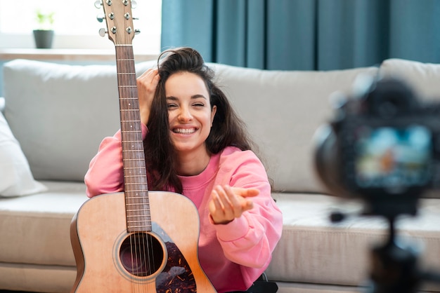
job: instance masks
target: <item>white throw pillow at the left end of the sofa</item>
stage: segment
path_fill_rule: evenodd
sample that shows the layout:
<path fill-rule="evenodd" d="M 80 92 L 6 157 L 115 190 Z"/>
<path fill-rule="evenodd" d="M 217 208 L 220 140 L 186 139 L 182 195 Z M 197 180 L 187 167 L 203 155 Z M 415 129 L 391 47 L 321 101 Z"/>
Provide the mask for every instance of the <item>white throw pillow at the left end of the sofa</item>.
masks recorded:
<path fill-rule="evenodd" d="M 25 196 L 46 190 L 32 177 L 25 154 L 0 112 L 0 196 Z"/>

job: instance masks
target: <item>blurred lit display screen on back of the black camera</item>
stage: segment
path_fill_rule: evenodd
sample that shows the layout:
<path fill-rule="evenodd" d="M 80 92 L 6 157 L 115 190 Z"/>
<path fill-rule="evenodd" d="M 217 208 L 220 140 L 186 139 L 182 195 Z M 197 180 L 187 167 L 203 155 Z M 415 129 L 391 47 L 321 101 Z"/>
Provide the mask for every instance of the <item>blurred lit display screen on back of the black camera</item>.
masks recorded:
<path fill-rule="evenodd" d="M 425 126 L 361 126 L 355 133 L 354 148 L 355 179 L 361 188 L 399 192 L 429 182 L 432 134 Z"/>

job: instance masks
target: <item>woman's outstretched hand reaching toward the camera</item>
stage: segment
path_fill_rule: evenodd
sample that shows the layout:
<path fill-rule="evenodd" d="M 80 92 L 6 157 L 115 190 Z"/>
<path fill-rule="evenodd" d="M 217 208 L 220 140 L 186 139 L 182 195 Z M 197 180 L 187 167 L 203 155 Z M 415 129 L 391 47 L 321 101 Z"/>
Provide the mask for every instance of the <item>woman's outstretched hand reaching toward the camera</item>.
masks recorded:
<path fill-rule="evenodd" d="M 257 196 L 258 189 L 245 189 L 228 185 L 217 185 L 211 191 L 209 214 L 214 224 L 228 224 L 241 217 L 242 213 L 252 209 L 254 204 L 249 197 Z"/>

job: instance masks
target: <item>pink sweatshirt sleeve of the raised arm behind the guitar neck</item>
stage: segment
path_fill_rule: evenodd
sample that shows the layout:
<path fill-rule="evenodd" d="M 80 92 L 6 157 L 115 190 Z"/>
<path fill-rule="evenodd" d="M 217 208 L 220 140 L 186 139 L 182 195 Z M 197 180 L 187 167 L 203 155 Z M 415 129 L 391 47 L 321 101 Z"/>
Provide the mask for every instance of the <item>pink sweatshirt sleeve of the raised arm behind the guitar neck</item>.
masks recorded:
<path fill-rule="evenodd" d="M 142 125 L 143 139 L 147 132 L 147 127 Z M 112 137 L 103 139 L 98 153 L 91 159 L 84 182 L 86 184 L 86 195 L 89 198 L 103 193 L 115 193 L 124 190 L 120 130 Z"/>

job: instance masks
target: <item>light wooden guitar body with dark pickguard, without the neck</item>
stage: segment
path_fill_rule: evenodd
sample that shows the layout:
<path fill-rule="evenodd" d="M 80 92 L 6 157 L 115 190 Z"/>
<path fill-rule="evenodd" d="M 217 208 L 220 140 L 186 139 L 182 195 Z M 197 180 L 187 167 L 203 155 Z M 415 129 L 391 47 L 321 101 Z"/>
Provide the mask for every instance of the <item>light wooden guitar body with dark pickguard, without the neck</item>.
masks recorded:
<path fill-rule="evenodd" d="M 72 292 L 216 292 L 198 261 L 193 203 L 164 191 L 150 191 L 149 197 L 150 232 L 127 232 L 124 193 L 82 205 L 70 226 L 77 261 Z"/>

